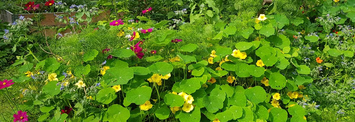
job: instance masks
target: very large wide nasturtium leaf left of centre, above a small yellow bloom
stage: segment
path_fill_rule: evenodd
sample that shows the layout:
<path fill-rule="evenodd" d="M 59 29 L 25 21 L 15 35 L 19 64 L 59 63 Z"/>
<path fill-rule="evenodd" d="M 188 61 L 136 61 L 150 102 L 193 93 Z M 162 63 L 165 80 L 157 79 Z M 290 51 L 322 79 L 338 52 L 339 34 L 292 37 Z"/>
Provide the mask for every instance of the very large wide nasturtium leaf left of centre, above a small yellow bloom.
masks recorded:
<path fill-rule="evenodd" d="M 109 86 L 127 84 L 133 78 L 134 71 L 131 68 L 112 67 L 107 69 L 103 79 Z"/>

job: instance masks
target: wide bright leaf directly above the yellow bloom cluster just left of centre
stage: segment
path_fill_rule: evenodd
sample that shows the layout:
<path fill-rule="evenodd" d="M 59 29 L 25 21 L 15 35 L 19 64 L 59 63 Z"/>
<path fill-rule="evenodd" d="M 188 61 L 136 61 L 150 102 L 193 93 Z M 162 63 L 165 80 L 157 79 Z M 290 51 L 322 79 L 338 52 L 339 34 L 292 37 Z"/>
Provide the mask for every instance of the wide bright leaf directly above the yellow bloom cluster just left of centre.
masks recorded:
<path fill-rule="evenodd" d="M 149 66 L 148 69 L 151 72 L 166 75 L 173 71 L 173 66 L 166 62 L 156 62 Z"/>

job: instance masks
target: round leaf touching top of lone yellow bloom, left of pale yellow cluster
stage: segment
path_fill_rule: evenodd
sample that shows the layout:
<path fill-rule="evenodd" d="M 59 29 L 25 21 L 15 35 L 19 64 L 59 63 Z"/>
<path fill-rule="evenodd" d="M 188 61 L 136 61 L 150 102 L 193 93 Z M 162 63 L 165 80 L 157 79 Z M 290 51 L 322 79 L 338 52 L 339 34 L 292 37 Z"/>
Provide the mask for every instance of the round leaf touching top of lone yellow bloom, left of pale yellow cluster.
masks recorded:
<path fill-rule="evenodd" d="M 127 99 L 128 102 L 135 103 L 137 105 L 142 105 L 151 98 L 151 95 L 152 88 L 148 86 L 143 86 L 128 91 L 125 99 Z"/>

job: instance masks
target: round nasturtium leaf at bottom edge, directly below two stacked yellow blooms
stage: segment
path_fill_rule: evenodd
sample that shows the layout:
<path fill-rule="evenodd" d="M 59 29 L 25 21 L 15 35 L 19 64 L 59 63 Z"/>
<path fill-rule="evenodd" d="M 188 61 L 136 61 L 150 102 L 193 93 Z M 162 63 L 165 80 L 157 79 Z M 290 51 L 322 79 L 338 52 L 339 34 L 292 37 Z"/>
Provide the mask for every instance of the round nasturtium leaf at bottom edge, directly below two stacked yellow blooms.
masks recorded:
<path fill-rule="evenodd" d="M 286 122 L 287 115 L 287 111 L 280 108 L 272 108 L 269 113 L 271 122 Z"/>

